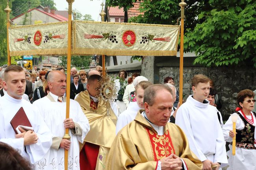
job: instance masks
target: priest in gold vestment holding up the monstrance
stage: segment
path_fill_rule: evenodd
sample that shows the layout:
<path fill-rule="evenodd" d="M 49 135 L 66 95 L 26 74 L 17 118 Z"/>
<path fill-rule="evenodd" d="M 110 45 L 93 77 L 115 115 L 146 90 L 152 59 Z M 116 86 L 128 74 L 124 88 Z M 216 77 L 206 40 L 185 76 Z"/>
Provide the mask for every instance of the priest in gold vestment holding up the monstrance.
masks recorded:
<path fill-rule="evenodd" d="M 80 92 L 75 99 L 90 125 L 90 131 L 80 151 L 81 170 L 106 169 L 106 157 L 115 139 L 117 117 L 111 108 L 109 109 L 110 117 L 106 116 L 106 108 L 101 106 L 96 98 L 95 88 L 100 79 L 99 75 L 91 75 L 87 80 L 87 90 Z"/>

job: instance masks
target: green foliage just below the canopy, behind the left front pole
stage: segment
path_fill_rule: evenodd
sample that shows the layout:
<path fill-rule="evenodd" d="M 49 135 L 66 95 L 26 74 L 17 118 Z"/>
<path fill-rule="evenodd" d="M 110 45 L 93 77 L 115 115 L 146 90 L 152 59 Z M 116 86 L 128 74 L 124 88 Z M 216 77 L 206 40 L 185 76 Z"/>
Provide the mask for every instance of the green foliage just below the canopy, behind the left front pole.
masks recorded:
<path fill-rule="evenodd" d="M 59 65 L 67 68 L 67 56 L 59 57 Z M 91 63 L 91 56 L 71 56 L 71 67 L 76 67 L 77 69 L 89 68 Z"/>

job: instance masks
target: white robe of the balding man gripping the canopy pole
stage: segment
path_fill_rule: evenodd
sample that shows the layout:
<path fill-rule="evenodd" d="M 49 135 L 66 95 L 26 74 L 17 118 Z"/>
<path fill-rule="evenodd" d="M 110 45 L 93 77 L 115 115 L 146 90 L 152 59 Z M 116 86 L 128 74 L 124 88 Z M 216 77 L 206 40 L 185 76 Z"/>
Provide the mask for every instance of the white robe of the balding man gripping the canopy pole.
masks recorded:
<path fill-rule="evenodd" d="M 44 121 L 52 132 L 52 137 L 62 138 L 65 134 L 63 122 L 66 119 L 66 102 L 57 102 L 58 96 L 52 93 L 50 93 L 50 96 L 52 99 L 54 99 L 54 102 L 50 101 L 50 99 L 45 96 L 33 102 L 33 105 L 39 108 Z M 83 139 L 89 132 L 90 126 L 89 121 L 82 112 L 80 105 L 78 102 L 72 99 L 70 99 L 69 114 L 69 117 L 82 128 L 82 135 L 74 134 L 71 130 L 69 130 L 71 144 L 68 152 L 68 169 L 80 170 L 79 142 L 83 143 Z M 52 146 L 45 157 L 36 165 L 36 168 L 39 170 L 42 170 L 43 168 L 47 170 L 64 170 L 64 148 L 56 149 Z"/>

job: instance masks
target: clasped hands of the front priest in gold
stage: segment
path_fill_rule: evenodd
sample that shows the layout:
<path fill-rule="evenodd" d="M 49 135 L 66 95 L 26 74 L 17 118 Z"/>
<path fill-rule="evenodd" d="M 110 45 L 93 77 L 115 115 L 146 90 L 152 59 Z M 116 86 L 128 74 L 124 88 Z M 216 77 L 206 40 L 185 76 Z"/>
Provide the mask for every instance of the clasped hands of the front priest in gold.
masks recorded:
<path fill-rule="evenodd" d="M 161 170 L 182 170 L 182 160 L 177 155 L 171 154 L 161 161 Z"/>

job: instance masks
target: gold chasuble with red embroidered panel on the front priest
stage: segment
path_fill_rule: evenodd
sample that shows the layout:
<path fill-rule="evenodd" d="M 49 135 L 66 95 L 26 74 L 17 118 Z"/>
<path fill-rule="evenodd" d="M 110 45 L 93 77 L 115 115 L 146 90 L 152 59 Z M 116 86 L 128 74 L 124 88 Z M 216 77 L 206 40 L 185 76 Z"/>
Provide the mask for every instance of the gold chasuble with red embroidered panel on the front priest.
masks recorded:
<path fill-rule="evenodd" d="M 187 170 L 202 170 L 202 162 L 189 149 L 184 132 L 167 123 L 158 135 L 148 121 L 137 113 L 135 120 L 115 137 L 108 154 L 107 170 L 156 170 L 158 161 L 171 154 L 182 158 Z"/>

